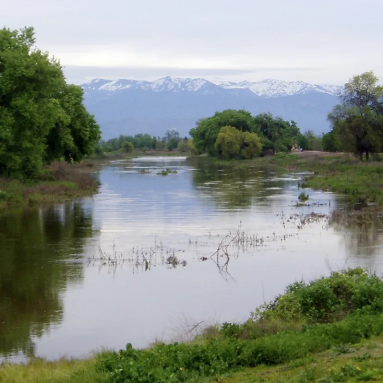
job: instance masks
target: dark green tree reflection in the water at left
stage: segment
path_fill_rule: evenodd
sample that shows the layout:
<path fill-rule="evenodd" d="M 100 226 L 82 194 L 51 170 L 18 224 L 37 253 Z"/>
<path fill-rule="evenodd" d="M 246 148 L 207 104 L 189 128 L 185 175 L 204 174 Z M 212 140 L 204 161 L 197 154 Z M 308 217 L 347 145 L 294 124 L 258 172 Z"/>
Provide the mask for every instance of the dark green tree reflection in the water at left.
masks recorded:
<path fill-rule="evenodd" d="M 92 233 L 80 203 L 0 216 L 0 355 L 34 355 L 33 339 L 61 323 L 61 294 L 83 279 L 73 254 Z"/>

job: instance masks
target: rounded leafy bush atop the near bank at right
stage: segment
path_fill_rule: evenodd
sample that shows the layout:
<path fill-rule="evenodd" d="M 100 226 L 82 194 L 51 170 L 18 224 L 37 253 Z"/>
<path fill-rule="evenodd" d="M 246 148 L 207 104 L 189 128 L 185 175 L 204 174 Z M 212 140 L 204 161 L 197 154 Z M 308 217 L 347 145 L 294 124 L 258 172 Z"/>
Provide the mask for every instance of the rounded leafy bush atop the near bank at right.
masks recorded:
<path fill-rule="evenodd" d="M 357 268 L 333 272 L 309 284 L 294 283 L 285 294 L 258 309 L 254 319 L 334 322 L 364 307 L 383 311 L 383 281 Z"/>

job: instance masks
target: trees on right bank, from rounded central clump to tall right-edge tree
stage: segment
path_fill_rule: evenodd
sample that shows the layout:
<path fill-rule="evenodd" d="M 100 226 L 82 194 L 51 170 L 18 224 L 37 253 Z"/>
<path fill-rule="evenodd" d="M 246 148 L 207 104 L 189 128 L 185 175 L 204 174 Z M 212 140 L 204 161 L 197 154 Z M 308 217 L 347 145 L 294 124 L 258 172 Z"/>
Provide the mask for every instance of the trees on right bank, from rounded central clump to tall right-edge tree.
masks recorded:
<path fill-rule="evenodd" d="M 190 130 L 197 153 L 221 159 L 249 159 L 262 153 L 303 150 L 355 153 L 369 160 L 383 151 L 383 86 L 374 72 L 354 76 L 345 84 L 340 103 L 329 113 L 332 129 L 322 137 L 300 132 L 294 121 L 270 113 L 252 116 L 227 109 L 202 118 Z"/>

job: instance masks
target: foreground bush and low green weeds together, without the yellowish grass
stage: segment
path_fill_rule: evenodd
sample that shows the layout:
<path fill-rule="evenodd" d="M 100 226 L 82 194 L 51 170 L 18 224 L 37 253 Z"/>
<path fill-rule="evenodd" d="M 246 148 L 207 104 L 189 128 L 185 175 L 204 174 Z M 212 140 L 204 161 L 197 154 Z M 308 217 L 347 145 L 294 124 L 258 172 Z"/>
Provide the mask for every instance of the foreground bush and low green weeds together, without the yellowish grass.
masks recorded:
<path fill-rule="evenodd" d="M 223 324 L 192 345 L 104 353 L 97 368 L 109 382 L 197 382 L 228 371 L 274 365 L 383 333 L 383 281 L 363 269 L 297 282 L 245 324 Z"/>

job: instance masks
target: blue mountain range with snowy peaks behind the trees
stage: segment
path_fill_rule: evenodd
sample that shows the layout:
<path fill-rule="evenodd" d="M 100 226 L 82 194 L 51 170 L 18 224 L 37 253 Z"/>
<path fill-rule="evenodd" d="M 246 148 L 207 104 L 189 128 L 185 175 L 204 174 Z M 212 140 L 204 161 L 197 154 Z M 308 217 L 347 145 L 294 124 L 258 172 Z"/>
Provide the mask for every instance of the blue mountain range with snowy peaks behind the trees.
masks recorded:
<path fill-rule="evenodd" d="M 327 114 L 342 88 L 302 81 L 210 82 L 164 77 L 156 81 L 95 79 L 82 84 L 85 105 L 96 116 L 103 138 L 149 133 L 162 136 L 176 128 L 187 135 L 201 117 L 227 108 L 252 114 L 271 112 L 294 120 L 301 131 L 329 131 Z"/>

